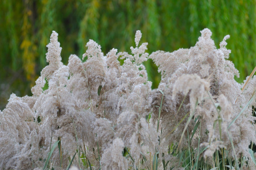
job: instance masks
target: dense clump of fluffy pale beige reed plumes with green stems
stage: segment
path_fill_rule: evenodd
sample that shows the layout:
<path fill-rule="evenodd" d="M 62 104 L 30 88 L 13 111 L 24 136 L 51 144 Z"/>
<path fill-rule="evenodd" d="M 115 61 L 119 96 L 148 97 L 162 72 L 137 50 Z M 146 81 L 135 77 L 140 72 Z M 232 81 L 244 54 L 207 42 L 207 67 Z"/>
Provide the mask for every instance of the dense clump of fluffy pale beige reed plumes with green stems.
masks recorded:
<path fill-rule="evenodd" d="M 131 53 L 105 56 L 90 40 L 65 66 L 53 31 L 33 95 L 12 94 L 0 111 L 1 169 L 255 170 L 255 71 L 236 82 L 229 35 L 219 49 L 211 35 L 150 55 L 140 31 Z M 157 89 L 147 59 L 161 73 Z"/>

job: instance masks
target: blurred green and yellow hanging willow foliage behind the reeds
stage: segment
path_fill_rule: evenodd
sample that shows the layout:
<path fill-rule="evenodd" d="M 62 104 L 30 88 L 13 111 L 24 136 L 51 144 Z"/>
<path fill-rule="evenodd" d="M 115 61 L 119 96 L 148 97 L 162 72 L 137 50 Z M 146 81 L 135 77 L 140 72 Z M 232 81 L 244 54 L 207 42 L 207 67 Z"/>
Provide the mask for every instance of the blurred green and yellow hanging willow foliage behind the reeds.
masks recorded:
<path fill-rule="evenodd" d="M 129 51 L 141 30 L 148 52 L 194 46 L 200 30 L 211 29 L 216 45 L 230 34 L 227 48 L 241 82 L 256 66 L 256 1 L 253 0 L 1 0 L 0 109 L 14 92 L 30 95 L 30 87 L 46 65 L 46 44 L 59 33 L 62 61 L 79 57 L 93 39 L 106 54 Z M 218 44 L 217 44 L 218 43 Z M 160 77 L 145 63 L 153 87 Z"/>

